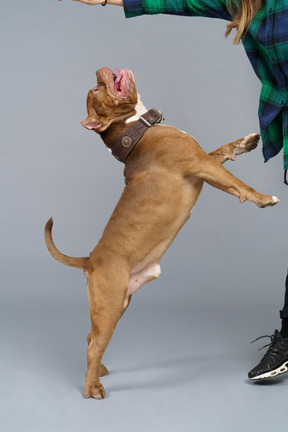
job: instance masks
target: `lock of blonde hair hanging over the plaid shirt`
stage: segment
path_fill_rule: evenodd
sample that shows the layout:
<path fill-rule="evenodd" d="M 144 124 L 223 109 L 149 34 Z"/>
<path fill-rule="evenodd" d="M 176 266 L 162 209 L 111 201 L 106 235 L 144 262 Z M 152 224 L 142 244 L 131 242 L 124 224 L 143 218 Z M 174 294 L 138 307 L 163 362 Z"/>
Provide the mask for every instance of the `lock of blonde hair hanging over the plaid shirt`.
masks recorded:
<path fill-rule="evenodd" d="M 246 35 L 249 30 L 250 24 L 258 9 L 261 5 L 261 1 L 257 0 L 239 0 L 235 4 L 234 0 L 227 0 L 227 9 L 232 16 L 232 22 L 227 25 L 225 37 L 227 37 L 231 31 L 235 28 L 236 35 L 233 40 L 233 44 L 239 44 L 241 37 Z"/>

